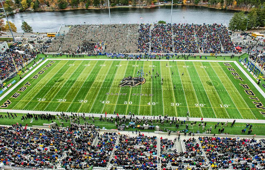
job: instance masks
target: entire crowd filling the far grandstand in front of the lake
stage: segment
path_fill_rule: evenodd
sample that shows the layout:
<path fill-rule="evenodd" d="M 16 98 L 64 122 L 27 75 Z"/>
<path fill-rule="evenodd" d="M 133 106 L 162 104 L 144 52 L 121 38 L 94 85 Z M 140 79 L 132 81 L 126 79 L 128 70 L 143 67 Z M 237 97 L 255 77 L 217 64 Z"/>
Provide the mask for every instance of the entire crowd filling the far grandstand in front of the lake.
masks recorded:
<path fill-rule="evenodd" d="M 94 43 L 107 53 L 236 53 L 223 24 L 74 25 L 65 36 L 57 37 L 47 52 L 99 52 Z"/>

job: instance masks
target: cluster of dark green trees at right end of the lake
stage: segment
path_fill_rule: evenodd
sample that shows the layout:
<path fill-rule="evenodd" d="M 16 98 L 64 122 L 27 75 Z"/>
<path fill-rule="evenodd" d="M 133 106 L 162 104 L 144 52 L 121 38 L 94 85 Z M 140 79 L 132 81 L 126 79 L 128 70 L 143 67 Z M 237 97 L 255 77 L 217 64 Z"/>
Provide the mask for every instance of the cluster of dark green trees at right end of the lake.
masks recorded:
<path fill-rule="evenodd" d="M 247 14 L 244 11 L 237 12 L 230 19 L 229 29 L 232 31 L 259 29 L 265 26 L 265 2 L 252 8 Z"/>

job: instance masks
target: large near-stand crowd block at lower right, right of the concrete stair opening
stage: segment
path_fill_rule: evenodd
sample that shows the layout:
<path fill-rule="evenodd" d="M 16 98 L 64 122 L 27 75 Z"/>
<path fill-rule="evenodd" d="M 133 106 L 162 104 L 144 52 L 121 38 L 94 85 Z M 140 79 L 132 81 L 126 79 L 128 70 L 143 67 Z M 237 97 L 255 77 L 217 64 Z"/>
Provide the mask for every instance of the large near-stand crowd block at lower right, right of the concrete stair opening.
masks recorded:
<path fill-rule="evenodd" d="M 212 169 L 259 169 L 245 146 L 251 140 L 239 138 L 199 137 Z"/>

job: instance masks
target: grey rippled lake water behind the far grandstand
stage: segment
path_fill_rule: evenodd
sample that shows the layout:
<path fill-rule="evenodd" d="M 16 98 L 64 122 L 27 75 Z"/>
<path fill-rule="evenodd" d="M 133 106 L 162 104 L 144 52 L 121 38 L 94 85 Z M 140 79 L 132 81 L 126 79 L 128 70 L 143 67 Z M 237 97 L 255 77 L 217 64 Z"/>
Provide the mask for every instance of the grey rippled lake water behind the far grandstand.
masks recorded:
<path fill-rule="evenodd" d="M 110 9 L 111 22 L 118 23 L 153 23 L 159 20 L 170 22 L 171 6 L 155 8 L 113 8 Z M 200 6 L 173 6 L 172 23 L 212 24 L 223 23 L 228 25 L 235 11 L 212 9 Z M 183 19 L 184 16 L 184 19 Z M 143 19 L 140 19 L 143 18 Z M 57 32 L 61 24 L 108 24 L 108 9 L 77 9 L 66 11 L 20 12 L 8 16 L 18 32 L 22 32 L 21 23 L 26 21 L 34 32 Z M 4 18 L 5 20 L 5 18 Z"/>

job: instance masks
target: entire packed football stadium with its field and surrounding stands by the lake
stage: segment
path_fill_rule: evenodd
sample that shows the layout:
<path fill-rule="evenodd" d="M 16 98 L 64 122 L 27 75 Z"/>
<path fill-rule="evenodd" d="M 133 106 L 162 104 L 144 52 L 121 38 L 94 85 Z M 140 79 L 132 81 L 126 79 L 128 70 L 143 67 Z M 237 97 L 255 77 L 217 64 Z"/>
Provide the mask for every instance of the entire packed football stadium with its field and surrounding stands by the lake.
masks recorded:
<path fill-rule="evenodd" d="M 6 22 L 1 170 L 265 169 L 265 40 L 246 21 L 71 22 L 42 36 Z"/>

